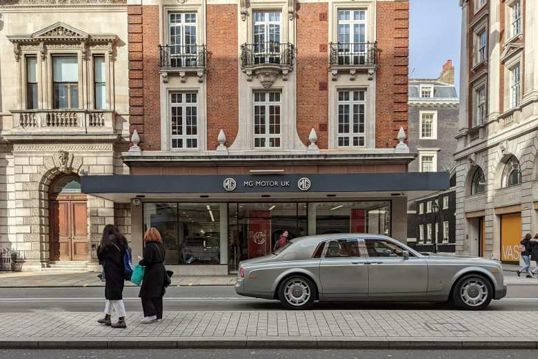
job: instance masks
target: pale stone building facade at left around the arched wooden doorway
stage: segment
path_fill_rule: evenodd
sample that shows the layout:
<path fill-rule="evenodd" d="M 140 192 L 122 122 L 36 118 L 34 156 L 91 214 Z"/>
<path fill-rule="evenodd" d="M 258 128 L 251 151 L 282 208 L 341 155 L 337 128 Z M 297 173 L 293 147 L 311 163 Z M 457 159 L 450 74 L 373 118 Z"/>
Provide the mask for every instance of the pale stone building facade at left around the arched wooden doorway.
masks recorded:
<path fill-rule="evenodd" d="M 123 1 L 9 1 L 0 6 L 0 248 L 23 258 L 23 270 L 51 264 L 50 185 L 59 176 L 128 173 L 119 155 L 128 140 L 127 6 Z M 52 61 L 77 59 L 78 102 L 57 108 Z M 94 61 L 103 57 L 104 106 L 97 109 Z M 30 106 L 29 59 L 37 61 Z M 11 84 L 11 86 L 6 86 Z M 74 101 L 74 100 L 73 100 Z M 86 199 L 89 266 L 103 226 L 130 234 L 130 211 L 90 195 Z"/>

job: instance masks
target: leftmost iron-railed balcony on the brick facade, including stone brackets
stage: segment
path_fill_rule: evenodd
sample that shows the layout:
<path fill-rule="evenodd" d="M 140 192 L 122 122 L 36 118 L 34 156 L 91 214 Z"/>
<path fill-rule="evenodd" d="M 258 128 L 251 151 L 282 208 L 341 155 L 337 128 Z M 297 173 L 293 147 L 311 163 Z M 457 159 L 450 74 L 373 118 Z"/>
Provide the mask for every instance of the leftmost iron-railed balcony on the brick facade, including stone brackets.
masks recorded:
<path fill-rule="evenodd" d="M 188 74 L 196 75 L 203 82 L 206 72 L 208 53 L 205 45 L 160 45 L 159 66 L 163 82 L 168 82 L 168 75 L 176 73 L 181 82 Z"/>

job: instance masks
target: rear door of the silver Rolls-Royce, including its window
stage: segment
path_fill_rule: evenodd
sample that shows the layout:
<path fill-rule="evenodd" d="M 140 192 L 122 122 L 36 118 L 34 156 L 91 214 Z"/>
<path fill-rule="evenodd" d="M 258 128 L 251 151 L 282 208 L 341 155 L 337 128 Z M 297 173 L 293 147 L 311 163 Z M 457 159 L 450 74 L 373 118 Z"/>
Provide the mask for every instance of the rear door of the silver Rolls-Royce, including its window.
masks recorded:
<path fill-rule="evenodd" d="M 368 296 L 367 261 L 366 253 L 359 251 L 357 239 L 328 241 L 319 262 L 320 299 L 366 298 Z"/>

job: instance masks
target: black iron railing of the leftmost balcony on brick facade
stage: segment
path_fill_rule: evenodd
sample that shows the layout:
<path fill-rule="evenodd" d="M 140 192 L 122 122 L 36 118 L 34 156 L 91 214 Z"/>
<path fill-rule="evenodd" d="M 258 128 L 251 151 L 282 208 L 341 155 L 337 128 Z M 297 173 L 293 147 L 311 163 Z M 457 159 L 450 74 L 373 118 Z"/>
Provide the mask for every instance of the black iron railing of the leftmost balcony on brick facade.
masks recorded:
<path fill-rule="evenodd" d="M 205 45 L 159 45 L 161 68 L 206 67 Z"/>

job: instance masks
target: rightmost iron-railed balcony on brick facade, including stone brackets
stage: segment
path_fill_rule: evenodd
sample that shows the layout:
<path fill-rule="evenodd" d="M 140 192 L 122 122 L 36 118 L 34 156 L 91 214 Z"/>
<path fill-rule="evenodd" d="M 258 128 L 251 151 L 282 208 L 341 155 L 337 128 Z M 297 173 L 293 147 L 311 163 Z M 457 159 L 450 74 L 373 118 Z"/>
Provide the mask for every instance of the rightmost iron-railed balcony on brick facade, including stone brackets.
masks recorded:
<path fill-rule="evenodd" d="M 377 42 L 330 43 L 329 71 L 336 81 L 339 72 L 349 72 L 354 80 L 357 72 L 368 72 L 368 79 L 374 79 L 377 68 Z"/>

